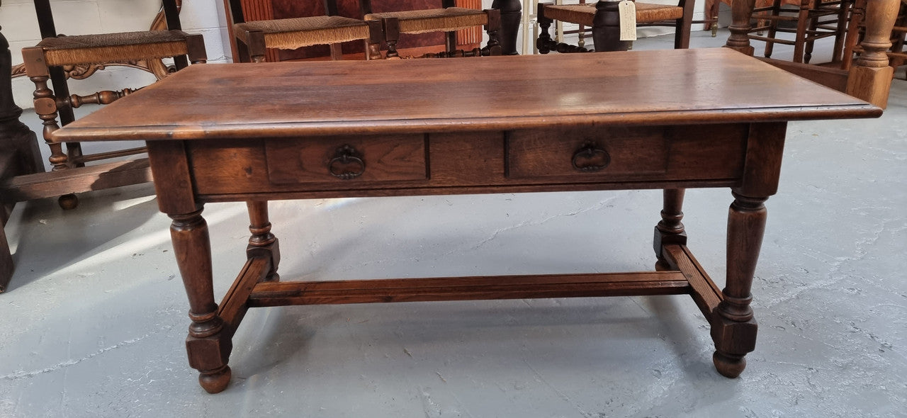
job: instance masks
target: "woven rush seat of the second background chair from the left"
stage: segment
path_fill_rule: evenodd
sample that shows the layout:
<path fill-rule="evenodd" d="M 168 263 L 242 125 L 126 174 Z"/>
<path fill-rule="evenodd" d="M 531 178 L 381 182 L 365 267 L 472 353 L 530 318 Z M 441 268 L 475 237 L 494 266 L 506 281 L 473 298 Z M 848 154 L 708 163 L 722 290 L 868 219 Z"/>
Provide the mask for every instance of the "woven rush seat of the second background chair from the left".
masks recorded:
<path fill-rule="evenodd" d="M 311 16 L 246 22 L 233 25 L 237 38 L 251 44 L 250 34 L 264 34 L 268 48 L 295 49 L 369 38 L 366 22 L 343 16 Z"/>

